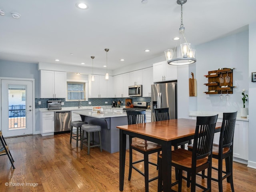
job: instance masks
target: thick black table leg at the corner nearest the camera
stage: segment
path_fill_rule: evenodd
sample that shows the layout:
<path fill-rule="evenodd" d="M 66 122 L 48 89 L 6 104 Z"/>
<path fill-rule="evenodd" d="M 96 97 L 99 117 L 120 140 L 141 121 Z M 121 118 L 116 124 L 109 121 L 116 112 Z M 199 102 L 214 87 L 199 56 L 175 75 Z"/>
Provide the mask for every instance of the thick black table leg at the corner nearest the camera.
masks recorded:
<path fill-rule="evenodd" d="M 164 192 L 170 192 L 171 190 L 171 178 L 172 178 L 172 145 L 171 142 L 167 142 L 162 145 L 162 178 L 163 178 L 163 190 Z"/>

